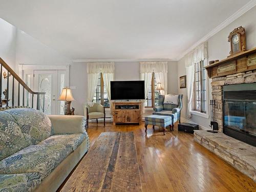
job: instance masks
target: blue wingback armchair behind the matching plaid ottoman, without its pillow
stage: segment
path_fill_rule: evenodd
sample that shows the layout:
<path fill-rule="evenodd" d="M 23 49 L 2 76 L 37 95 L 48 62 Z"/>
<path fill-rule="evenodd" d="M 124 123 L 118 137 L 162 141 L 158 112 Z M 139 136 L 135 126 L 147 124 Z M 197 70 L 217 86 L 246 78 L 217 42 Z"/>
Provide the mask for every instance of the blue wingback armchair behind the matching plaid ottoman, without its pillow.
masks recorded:
<path fill-rule="evenodd" d="M 159 106 L 154 108 L 153 115 L 167 115 L 172 117 L 172 125 L 179 120 L 180 123 L 180 111 L 182 109 L 182 97 L 178 95 L 178 104 L 164 103 L 165 95 L 159 95 Z"/>

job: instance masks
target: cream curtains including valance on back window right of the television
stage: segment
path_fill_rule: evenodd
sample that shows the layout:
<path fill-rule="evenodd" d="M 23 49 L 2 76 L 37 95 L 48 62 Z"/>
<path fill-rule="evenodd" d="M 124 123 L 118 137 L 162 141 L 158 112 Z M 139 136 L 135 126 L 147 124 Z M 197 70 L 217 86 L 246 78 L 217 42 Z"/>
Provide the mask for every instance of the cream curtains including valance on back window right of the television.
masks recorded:
<path fill-rule="evenodd" d="M 140 62 L 140 79 L 145 80 L 145 98 L 148 94 L 148 86 L 151 84 L 152 73 L 155 72 L 157 82 L 161 82 L 164 93 L 167 94 L 167 61 Z M 145 111 L 143 107 L 143 111 Z"/>

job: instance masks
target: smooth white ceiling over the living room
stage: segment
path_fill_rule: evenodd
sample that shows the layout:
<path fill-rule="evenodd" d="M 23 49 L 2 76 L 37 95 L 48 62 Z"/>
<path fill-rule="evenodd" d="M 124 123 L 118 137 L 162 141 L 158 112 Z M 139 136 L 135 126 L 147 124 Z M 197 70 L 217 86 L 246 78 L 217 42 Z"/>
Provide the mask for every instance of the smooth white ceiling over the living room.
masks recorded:
<path fill-rule="evenodd" d="M 0 0 L 0 17 L 70 59 L 175 60 L 249 0 Z"/>

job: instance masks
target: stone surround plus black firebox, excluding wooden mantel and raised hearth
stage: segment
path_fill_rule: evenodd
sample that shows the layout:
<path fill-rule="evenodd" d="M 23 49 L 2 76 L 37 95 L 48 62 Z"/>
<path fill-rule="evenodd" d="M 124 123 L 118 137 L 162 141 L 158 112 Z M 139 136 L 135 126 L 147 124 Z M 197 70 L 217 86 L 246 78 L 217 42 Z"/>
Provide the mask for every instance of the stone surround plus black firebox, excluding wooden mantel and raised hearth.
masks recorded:
<path fill-rule="evenodd" d="M 212 99 L 217 103 L 216 121 L 219 132 L 255 146 L 256 128 L 253 130 L 255 120 L 252 119 L 256 105 L 254 82 L 256 70 L 212 78 L 211 86 Z"/>

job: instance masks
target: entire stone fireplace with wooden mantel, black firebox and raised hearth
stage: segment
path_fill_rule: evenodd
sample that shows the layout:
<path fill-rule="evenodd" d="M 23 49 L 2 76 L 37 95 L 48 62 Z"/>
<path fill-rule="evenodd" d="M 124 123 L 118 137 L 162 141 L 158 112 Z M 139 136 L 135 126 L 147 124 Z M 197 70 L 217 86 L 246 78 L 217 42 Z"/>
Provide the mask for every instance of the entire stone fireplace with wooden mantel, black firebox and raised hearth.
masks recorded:
<path fill-rule="evenodd" d="M 256 182 L 256 48 L 205 69 L 219 132 L 195 130 L 194 140 Z"/>

